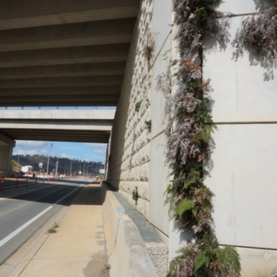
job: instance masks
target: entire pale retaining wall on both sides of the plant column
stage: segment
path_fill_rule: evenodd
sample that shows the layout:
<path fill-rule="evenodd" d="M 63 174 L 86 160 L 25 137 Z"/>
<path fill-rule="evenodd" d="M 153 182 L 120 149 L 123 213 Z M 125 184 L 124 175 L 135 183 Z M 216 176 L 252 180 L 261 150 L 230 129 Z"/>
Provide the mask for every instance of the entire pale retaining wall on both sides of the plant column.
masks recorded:
<path fill-rule="evenodd" d="M 226 0 L 219 10 L 256 12 L 256 0 L 237 2 Z M 231 20 L 231 40 L 243 19 Z M 169 179 L 165 98 L 156 86 L 157 76 L 168 71 L 170 57 L 178 58 L 171 24 L 172 1 L 142 1 L 109 143 L 107 172 L 107 180 L 132 204 L 132 191 L 138 186 L 136 208 L 168 238 L 170 258 L 181 238 L 164 206 Z M 150 62 L 143 55 L 148 33 L 155 41 Z M 224 50 L 218 46 L 209 50 L 203 72 L 214 89 L 217 130 L 206 185 L 215 193 L 215 231 L 220 244 L 238 247 L 242 277 L 267 277 L 277 273 L 277 76 L 265 81 L 264 69 L 250 65 L 249 53 L 235 62 L 231 43 Z M 136 112 L 138 102 L 141 108 Z M 152 120 L 151 132 L 145 120 Z"/>

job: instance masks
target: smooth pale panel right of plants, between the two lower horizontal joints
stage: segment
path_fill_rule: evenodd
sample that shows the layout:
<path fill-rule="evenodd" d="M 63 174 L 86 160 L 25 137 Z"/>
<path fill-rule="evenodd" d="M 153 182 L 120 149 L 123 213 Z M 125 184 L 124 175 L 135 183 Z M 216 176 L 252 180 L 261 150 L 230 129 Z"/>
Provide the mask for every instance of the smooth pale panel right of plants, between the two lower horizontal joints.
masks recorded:
<path fill-rule="evenodd" d="M 211 177 L 220 244 L 277 249 L 277 124 L 218 125 Z"/>

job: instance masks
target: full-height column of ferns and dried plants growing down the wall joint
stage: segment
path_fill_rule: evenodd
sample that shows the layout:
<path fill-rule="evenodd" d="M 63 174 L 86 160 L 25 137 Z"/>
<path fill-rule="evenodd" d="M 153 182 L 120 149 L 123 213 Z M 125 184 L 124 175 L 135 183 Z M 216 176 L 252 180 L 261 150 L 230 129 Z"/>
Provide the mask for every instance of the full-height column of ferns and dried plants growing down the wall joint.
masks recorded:
<path fill-rule="evenodd" d="M 181 231 L 193 233 L 193 240 L 179 249 L 170 262 L 167 277 L 240 275 L 240 258 L 234 247 L 220 248 L 213 230 L 213 193 L 205 186 L 208 175 L 204 161 L 211 149 L 213 120 L 208 109 L 210 80 L 202 78 L 203 40 L 213 35 L 226 39 L 228 21 L 218 19 L 215 8 L 221 0 L 173 0 L 181 59 L 174 74 L 179 89 L 171 94 L 169 74 L 159 76 L 157 89 L 166 96 L 166 161 L 173 180 L 166 189 Z"/>

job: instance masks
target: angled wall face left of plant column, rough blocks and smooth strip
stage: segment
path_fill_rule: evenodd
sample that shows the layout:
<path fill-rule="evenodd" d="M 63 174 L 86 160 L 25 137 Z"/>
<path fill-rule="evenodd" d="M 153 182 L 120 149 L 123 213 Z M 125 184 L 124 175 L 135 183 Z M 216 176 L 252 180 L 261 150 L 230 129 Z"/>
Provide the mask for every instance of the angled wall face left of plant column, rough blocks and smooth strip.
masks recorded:
<path fill-rule="evenodd" d="M 108 154 L 107 180 L 135 204 L 132 191 L 137 186 L 136 208 L 162 233 L 168 235 L 168 207 L 163 192 L 168 180 L 164 165 L 165 99 L 157 91 L 157 76 L 168 70 L 171 50 L 172 3 L 168 0 L 143 0 L 141 13 L 125 71 L 125 79 Z M 144 55 L 148 35 L 154 39 L 152 57 Z M 141 103 L 135 111 L 136 103 Z M 148 131 L 145 121 L 151 120 Z"/>

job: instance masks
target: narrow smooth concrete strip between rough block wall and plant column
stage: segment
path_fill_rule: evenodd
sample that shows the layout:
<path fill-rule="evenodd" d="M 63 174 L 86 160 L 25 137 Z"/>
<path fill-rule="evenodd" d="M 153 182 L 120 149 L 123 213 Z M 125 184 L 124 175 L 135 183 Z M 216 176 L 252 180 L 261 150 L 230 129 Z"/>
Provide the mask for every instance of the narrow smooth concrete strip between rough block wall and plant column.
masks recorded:
<path fill-rule="evenodd" d="M 154 1 L 152 16 L 152 32 L 155 36 L 154 63 L 152 66 L 152 136 L 150 161 L 150 222 L 162 233 L 168 236 L 168 205 L 165 206 L 163 193 L 169 182 L 169 169 L 165 164 L 166 127 L 165 104 L 166 98 L 162 91 L 157 90 L 159 75 L 170 71 L 172 48 L 172 1 Z M 162 236 L 162 238 L 164 238 Z"/>

